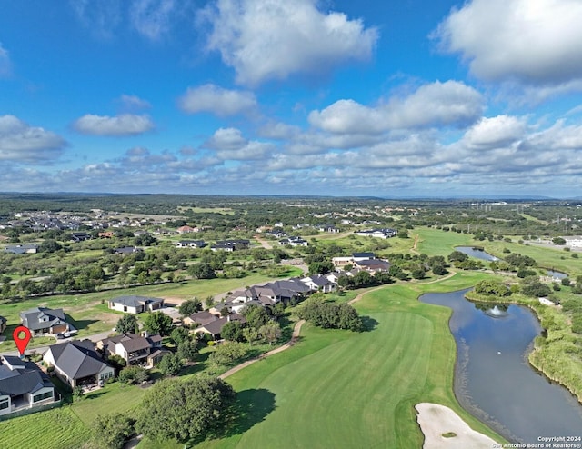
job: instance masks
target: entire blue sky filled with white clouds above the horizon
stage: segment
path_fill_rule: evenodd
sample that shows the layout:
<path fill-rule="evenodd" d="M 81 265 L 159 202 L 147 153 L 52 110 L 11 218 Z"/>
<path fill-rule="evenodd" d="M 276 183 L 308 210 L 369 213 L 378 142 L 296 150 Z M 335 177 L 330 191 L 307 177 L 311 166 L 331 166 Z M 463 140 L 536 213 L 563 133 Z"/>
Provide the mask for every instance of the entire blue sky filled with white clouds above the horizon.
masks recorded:
<path fill-rule="evenodd" d="M 0 192 L 582 195 L 581 0 L 5 1 Z"/>

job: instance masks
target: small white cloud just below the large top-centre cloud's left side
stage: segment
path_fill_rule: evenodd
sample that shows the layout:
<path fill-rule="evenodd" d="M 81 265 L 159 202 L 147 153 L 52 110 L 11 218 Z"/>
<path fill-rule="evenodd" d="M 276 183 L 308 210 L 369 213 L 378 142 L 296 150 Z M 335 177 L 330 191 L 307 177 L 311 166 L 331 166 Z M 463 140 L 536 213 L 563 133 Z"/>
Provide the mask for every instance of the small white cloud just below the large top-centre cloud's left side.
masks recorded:
<path fill-rule="evenodd" d="M 230 90 L 218 85 L 189 87 L 178 100 L 180 109 L 188 114 L 209 112 L 218 116 L 236 115 L 256 108 L 252 92 Z"/>

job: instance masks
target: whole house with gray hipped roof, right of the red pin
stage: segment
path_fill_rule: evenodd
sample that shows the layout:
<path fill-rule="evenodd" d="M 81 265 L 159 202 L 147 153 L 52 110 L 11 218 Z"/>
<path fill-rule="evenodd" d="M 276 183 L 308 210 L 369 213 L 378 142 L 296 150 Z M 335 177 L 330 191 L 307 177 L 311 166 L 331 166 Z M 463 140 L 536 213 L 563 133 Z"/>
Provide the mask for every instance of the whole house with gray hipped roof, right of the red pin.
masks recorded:
<path fill-rule="evenodd" d="M 65 384 L 97 384 L 114 377 L 115 370 L 105 364 L 89 340 L 52 344 L 43 356 L 45 364 L 55 366 L 55 374 Z"/>

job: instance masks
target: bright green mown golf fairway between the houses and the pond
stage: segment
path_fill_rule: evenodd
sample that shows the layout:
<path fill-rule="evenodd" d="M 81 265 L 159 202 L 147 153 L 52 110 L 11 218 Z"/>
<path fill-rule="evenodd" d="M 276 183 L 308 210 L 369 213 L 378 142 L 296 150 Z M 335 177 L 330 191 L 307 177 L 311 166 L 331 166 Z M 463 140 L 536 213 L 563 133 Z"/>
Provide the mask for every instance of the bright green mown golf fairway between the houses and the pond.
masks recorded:
<path fill-rule="evenodd" d="M 420 402 L 447 405 L 503 441 L 457 404 L 450 311 L 417 301 L 422 292 L 466 287 L 484 276 L 463 273 L 442 284 L 396 284 L 366 294 L 355 305 L 376 324 L 361 334 L 306 325 L 296 346 L 228 378 L 246 419 L 239 433 L 199 447 L 421 447 L 414 411 Z"/>

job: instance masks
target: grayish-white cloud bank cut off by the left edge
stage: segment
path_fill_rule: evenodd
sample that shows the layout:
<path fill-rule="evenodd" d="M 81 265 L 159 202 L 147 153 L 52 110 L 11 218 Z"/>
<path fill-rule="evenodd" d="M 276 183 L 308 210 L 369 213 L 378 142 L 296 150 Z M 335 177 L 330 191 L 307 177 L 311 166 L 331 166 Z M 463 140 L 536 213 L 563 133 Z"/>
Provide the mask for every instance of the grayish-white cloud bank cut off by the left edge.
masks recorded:
<path fill-rule="evenodd" d="M 0 116 L 0 160 L 28 163 L 51 162 L 66 142 L 44 128 L 27 125 L 14 115 Z"/>

